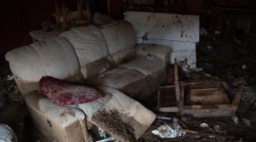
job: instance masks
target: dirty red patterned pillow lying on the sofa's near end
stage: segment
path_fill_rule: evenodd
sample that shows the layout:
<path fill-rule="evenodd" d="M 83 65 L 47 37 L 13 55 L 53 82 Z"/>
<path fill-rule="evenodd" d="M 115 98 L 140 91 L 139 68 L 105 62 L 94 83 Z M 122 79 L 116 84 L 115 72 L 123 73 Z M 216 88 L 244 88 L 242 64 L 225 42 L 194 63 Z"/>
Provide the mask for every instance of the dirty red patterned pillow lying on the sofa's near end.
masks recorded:
<path fill-rule="evenodd" d="M 39 87 L 44 96 L 59 106 L 87 103 L 102 97 L 94 88 L 71 84 L 52 76 L 43 76 Z"/>

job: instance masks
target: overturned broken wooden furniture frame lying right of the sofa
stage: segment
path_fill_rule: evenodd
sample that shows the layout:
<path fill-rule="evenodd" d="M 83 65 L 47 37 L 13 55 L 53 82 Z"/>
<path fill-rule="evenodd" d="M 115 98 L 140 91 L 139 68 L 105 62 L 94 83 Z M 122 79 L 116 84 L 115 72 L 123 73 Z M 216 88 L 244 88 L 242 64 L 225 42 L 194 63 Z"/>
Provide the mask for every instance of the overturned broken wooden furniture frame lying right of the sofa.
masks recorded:
<path fill-rule="evenodd" d="M 179 81 L 175 65 L 175 86 L 160 86 L 158 109 L 161 112 L 177 112 L 180 116 L 232 117 L 238 109 L 242 86 L 230 102 L 219 80 Z"/>

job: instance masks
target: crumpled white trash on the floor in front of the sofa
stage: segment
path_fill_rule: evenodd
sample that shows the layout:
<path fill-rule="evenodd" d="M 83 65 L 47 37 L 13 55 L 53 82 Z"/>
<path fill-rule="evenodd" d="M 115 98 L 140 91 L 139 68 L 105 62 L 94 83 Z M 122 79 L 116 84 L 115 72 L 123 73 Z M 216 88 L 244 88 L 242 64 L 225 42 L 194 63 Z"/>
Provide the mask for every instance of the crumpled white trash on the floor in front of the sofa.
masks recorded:
<path fill-rule="evenodd" d="M 156 136 L 163 138 L 182 137 L 186 134 L 186 132 L 184 132 L 177 123 L 164 124 L 163 126 L 160 126 L 153 130 L 152 133 Z"/>

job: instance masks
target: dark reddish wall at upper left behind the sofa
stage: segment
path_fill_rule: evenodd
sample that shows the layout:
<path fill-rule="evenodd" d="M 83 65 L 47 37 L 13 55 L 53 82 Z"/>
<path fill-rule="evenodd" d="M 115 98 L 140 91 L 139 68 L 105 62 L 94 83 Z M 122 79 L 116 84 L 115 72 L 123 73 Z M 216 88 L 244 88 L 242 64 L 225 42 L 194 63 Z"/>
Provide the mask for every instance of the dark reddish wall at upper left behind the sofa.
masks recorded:
<path fill-rule="evenodd" d="M 73 0 L 59 2 L 65 2 L 71 9 L 77 5 Z M 40 29 L 44 21 L 54 21 L 54 11 L 54 0 L 2 0 L 0 53 L 32 43 L 28 32 Z"/>

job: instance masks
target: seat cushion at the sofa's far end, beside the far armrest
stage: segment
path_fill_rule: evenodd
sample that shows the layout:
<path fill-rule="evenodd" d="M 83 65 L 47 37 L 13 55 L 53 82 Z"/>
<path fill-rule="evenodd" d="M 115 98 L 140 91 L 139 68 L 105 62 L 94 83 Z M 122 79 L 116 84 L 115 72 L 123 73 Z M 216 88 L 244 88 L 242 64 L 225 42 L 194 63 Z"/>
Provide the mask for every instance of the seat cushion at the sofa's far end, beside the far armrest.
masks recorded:
<path fill-rule="evenodd" d="M 159 86 L 165 81 L 165 61 L 156 56 L 151 59 L 146 56 L 137 56 L 132 61 L 118 67 L 144 74 L 148 80 L 148 86 Z"/>

